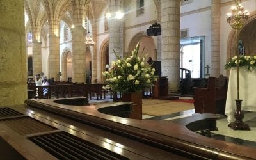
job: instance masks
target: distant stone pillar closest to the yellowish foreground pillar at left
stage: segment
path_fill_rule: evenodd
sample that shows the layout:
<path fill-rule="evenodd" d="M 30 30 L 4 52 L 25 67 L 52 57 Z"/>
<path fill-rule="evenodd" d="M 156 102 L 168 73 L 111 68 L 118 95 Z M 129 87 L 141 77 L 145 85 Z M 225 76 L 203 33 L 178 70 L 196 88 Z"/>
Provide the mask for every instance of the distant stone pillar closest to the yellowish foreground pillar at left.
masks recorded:
<path fill-rule="evenodd" d="M 42 43 L 33 40 L 32 60 L 33 60 L 33 76 L 42 72 Z"/>

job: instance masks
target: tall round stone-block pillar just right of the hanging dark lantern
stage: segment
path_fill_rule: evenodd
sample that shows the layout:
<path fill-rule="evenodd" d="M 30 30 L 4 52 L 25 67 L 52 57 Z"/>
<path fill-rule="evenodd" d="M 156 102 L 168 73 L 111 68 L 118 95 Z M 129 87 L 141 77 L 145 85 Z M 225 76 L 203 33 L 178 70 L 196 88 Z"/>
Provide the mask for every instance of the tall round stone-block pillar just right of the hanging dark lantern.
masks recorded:
<path fill-rule="evenodd" d="M 161 60 L 163 76 L 168 76 L 169 90 L 177 92 L 180 84 L 180 1 L 161 0 Z"/>

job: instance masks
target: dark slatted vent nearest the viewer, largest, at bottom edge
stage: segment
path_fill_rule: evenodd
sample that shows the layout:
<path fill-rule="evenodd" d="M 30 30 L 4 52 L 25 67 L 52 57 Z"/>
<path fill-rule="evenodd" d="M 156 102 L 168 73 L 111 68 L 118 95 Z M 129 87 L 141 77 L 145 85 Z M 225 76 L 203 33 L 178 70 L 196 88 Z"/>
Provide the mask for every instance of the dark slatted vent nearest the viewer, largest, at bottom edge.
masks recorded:
<path fill-rule="evenodd" d="M 58 159 L 127 159 L 67 132 L 29 137 Z"/>

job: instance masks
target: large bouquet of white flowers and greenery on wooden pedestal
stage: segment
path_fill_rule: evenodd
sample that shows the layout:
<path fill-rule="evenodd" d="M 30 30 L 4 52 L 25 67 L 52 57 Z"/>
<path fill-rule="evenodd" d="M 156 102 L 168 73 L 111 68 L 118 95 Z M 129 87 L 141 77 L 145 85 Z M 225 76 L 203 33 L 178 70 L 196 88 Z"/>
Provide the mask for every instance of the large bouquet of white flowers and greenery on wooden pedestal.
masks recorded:
<path fill-rule="evenodd" d="M 117 60 L 112 61 L 109 71 L 103 72 L 108 83 L 103 89 L 111 89 L 114 92 L 141 92 L 157 81 L 157 77 L 154 76 L 155 69 L 144 62 L 147 55 L 143 58 L 138 57 L 139 48 L 138 43 L 131 55 L 124 59 L 115 52 Z"/>

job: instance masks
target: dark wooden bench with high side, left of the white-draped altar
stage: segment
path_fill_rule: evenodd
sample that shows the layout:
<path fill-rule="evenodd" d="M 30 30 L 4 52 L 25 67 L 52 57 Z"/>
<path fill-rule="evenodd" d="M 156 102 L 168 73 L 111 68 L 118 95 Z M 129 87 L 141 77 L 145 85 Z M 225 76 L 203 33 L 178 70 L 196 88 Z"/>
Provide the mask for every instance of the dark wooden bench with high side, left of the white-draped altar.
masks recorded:
<path fill-rule="evenodd" d="M 228 77 L 209 77 L 207 88 L 194 88 L 195 113 L 225 114 Z"/>

